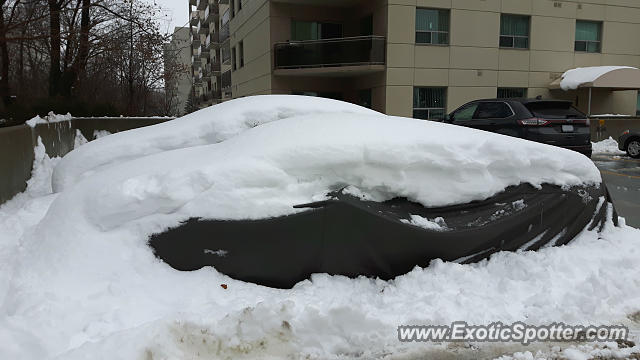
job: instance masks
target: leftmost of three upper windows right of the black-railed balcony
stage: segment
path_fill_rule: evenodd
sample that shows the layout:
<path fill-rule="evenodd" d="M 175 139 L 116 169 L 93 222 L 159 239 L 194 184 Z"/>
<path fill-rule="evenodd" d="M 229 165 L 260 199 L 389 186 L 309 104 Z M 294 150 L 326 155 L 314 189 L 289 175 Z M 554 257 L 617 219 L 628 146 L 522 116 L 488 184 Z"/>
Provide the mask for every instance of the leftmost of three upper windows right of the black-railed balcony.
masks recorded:
<path fill-rule="evenodd" d="M 449 44 L 449 10 L 416 9 L 416 44 Z"/>

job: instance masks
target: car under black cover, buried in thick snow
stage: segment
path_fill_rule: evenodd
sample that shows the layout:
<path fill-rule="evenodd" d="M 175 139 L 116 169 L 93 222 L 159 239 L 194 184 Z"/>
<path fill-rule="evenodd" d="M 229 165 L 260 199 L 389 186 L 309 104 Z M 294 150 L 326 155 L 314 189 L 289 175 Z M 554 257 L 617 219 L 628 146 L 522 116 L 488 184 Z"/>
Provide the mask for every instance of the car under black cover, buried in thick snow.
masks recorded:
<path fill-rule="evenodd" d="M 100 138 L 62 159 L 53 188 L 49 213 L 64 217 L 43 222 L 63 238 L 108 236 L 179 270 L 272 287 L 313 273 L 390 279 L 617 221 L 579 153 L 299 96 Z"/>

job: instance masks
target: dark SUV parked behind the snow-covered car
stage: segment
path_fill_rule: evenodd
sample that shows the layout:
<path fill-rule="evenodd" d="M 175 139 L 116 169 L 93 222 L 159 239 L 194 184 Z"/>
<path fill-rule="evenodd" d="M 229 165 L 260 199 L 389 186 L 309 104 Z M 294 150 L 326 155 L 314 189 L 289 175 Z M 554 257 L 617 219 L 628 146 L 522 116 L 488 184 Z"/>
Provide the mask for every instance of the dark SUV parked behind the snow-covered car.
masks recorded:
<path fill-rule="evenodd" d="M 570 101 L 543 99 L 484 99 L 467 103 L 446 121 L 555 145 L 591 157 L 589 118 Z"/>

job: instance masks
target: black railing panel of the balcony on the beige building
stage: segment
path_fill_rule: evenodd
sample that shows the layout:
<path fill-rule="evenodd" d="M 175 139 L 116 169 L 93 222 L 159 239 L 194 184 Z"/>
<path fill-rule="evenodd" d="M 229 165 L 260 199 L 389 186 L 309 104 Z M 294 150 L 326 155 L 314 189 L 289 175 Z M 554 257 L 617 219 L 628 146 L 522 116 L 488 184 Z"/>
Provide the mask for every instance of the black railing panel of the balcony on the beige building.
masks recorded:
<path fill-rule="evenodd" d="M 385 38 L 358 36 L 275 45 L 276 69 L 384 65 Z"/>

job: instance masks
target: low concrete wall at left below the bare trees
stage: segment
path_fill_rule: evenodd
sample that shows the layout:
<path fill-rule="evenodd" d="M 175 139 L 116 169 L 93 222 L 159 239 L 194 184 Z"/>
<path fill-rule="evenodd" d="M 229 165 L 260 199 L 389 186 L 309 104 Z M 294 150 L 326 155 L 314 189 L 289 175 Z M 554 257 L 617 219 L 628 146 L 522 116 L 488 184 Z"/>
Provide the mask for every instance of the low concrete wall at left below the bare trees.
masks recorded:
<path fill-rule="evenodd" d="M 0 204 L 24 191 L 31 178 L 33 149 L 42 139 L 49 157 L 62 157 L 73 150 L 76 130 L 87 139 L 96 130 L 111 133 L 159 124 L 168 118 L 76 118 L 35 128 L 18 125 L 0 128 Z"/>

